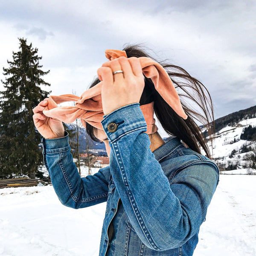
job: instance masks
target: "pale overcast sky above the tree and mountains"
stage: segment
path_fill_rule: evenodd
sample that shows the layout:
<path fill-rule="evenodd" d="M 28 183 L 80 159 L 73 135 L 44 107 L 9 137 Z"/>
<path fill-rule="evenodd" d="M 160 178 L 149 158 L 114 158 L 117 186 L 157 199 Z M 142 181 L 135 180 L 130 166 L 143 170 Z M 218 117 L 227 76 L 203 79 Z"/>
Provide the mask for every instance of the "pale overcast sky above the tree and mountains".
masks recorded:
<path fill-rule="evenodd" d="M 1 70 L 27 38 L 52 95 L 81 95 L 105 49 L 143 43 L 207 87 L 215 119 L 256 105 L 255 0 L 1 0 L 0 35 Z"/>

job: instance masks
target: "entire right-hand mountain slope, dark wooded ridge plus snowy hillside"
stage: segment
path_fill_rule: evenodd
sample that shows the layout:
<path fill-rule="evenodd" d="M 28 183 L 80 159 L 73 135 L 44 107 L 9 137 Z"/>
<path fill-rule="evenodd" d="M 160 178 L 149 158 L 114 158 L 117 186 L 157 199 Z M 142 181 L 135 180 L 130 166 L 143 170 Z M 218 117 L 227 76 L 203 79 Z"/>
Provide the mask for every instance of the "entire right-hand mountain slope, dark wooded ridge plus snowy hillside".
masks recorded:
<path fill-rule="evenodd" d="M 251 169 L 254 140 L 241 140 L 244 129 L 252 127 L 256 134 L 256 106 L 231 113 L 215 120 L 216 134 L 212 144 L 212 158 L 218 164 L 220 171 L 225 174 L 252 174 Z M 202 131 L 204 131 L 202 129 Z M 253 136 L 255 138 L 255 135 Z M 208 144 L 211 147 L 210 143 Z M 226 172 L 224 172 L 226 171 Z"/>

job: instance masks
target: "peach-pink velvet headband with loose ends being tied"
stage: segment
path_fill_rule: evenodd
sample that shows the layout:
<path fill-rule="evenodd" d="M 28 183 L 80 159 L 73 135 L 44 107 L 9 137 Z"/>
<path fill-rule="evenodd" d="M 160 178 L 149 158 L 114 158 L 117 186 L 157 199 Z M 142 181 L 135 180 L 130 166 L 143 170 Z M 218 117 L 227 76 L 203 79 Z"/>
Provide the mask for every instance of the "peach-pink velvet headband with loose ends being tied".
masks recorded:
<path fill-rule="evenodd" d="M 105 55 L 109 60 L 125 56 L 126 52 L 122 50 L 107 49 Z M 172 80 L 166 70 L 157 62 L 147 57 L 140 57 L 140 64 L 143 74 L 151 78 L 157 92 L 172 107 L 172 109 L 183 119 L 187 118 L 180 99 L 175 90 Z M 60 96 L 49 96 L 48 105 L 43 111 L 44 115 L 58 119 L 65 123 L 72 123 L 76 119 L 81 119 L 82 125 L 86 128 L 86 122 L 90 125 L 103 130 L 101 121 L 103 119 L 103 108 L 101 99 L 101 88 L 103 81 L 82 93 L 81 97 L 73 94 L 64 94 Z M 62 102 L 75 102 L 75 106 L 58 106 Z M 145 121 L 147 123 L 147 134 L 152 134 L 158 130 L 155 125 L 154 102 L 140 106 Z"/>

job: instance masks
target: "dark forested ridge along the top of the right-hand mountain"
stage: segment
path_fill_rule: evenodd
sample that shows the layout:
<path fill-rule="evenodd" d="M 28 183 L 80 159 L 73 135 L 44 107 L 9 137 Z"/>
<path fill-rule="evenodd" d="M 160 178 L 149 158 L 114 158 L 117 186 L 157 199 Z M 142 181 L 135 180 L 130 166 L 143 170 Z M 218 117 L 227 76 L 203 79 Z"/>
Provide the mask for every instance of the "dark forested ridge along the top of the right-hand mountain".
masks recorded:
<path fill-rule="evenodd" d="M 223 116 L 215 120 L 215 132 L 220 131 L 227 125 L 234 125 L 239 121 L 254 117 L 256 117 L 256 106 L 233 112 L 227 116 Z M 201 125 L 200 128 L 202 129 L 204 126 Z M 207 131 L 204 132 L 204 136 L 209 136 Z"/>

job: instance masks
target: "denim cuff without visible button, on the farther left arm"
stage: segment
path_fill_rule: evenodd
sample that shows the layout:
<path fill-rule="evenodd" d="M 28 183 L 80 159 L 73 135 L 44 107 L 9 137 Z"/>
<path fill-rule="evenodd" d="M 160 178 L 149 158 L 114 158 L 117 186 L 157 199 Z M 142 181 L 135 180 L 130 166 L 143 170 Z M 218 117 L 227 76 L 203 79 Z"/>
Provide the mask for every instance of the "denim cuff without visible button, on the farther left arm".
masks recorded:
<path fill-rule="evenodd" d="M 68 140 L 68 132 L 64 131 L 64 137 L 57 138 L 57 139 L 45 139 L 43 138 L 44 146 L 46 152 L 55 152 L 63 151 L 64 148 L 69 147 L 69 140 Z"/>

